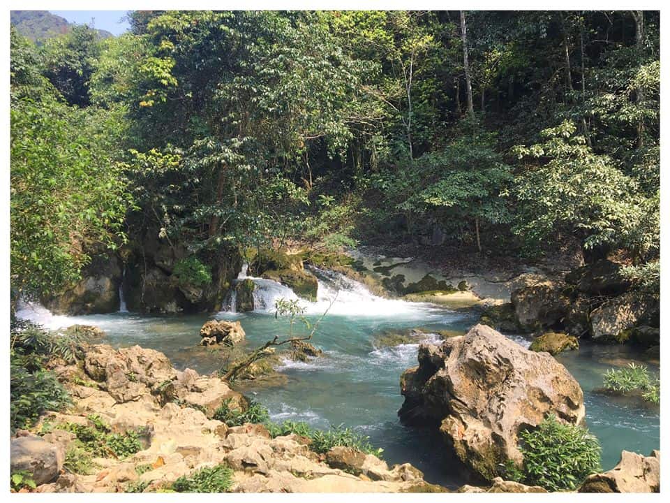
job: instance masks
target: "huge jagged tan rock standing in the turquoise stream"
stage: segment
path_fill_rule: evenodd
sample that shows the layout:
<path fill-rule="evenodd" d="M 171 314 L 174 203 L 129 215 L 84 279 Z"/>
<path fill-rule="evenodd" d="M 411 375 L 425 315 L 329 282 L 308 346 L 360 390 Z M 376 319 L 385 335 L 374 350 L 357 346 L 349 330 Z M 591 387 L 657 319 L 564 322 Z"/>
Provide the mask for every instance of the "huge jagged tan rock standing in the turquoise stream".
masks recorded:
<path fill-rule="evenodd" d="M 439 425 L 456 455 L 489 480 L 500 463 L 521 461 L 521 430 L 549 413 L 565 423 L 584 419 L 583 393 L 563 365 L 484 325 L 440 347 L 422 344 L 401 393 L 403 423 Z"/>

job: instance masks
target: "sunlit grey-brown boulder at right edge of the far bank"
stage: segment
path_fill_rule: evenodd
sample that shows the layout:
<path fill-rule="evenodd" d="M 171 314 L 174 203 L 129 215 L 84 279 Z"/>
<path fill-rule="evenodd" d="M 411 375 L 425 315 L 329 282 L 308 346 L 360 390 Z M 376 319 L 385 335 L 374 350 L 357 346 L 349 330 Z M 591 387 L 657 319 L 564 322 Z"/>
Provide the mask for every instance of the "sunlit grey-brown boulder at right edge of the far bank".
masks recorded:
<path fill-rule="evenodd" d="M 595 340 L 626 342 L 630 329 L 645 323 L 658 310 L 658 300 L 630 291 L 606 301 L 589 315 L 590 333 Z"/>

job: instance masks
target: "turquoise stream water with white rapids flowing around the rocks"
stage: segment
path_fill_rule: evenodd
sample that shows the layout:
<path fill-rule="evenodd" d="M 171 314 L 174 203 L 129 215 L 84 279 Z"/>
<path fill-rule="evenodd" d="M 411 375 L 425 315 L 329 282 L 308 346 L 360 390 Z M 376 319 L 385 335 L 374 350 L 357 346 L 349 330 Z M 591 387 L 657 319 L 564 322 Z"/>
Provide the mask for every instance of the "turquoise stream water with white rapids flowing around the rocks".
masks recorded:
<path fill-rule="evenodd" d="M 332 300 L 336 287 L 330 284 L 324 288 L 325 297 L 321 298 L 320 294 L 319 302 L 308 306 L 311 321 L 318 319 L 317 313 L 328 307 L 327 301 Z M 259 300 L 269 304 L 272 296 L 287 293 L 283 287 L 271 285 L 271 289 L 274 289 L 271 294 L 267 290 L 258 293 L 265 296 Z M 327 293 L 330 293 L 330 299 Z M 348 315 L 348 311 L 355 314 Z M 207 319 L 238 319 L 246 331 L 246 344 L 250 348 L 288 330 L 287 321 L 275 319 L 269 310 L 244 314 L 222 312 L 215 316 L 116 313 L 70 318 L 42 312 L 31 317 L 47 326 L 97 325 L 105 330 L 107 342 L 115 347 L 140 344 L 158 349 L 172 360 L 175 367 L 191 367 L 202 373 L 213 372 L 223 364 L 221 354 L 216 350 L 197 346 L 200 326 Z M 374 335 L 382 330 L 423 327 L 465 331 L 473 323 L 473 312 L 453 312 L 433 305 L 377 299 L 356 286 L 353 290 L 338 293 L 331 313 L 318 326 L 312 342 L 325 352 L 324 357 L 309 363 L 285 363 L 280 370 L 286 380 L 278 386 L 258 387 L 251 383 L 241 386 L 240 391 L 264 404 L 275 421 L 306 421 L 318 428 L 341 423 L 351 426 L 369 435 L 375 446 L 385 450 L 384 458 L 389 465 L 411 462 L 424 472 L 426 480 L 433 483 L 454 487 L 475 482 L 476 479 L 472 479 L 461 463 L 447 452 L 438 435 L 429 430 L 405 427 L 398 421 L 396 412 L 403 402 L 400 375 L 406 368 L 417 365 L 418 344 L 392 348 L 375 348 L 373 345 Z M 528 341 L 522 336 L 508 337 L 528 347 Z M 563 353 L 558 359 L 583 388 L 588 427 L 602 443 L 604 469 L 616 465 L 622 449 L 648 454 L 660 447 L 657 407 L 641 407 L 593 393 L 602 384 L 605 370 L 625 365 L 630 360 L 639 362 L 643 360 L 641 355 L 626 347 L 583 342 L 580 351 Z M 657 367 L 648 365 L 657 371 Z"/>

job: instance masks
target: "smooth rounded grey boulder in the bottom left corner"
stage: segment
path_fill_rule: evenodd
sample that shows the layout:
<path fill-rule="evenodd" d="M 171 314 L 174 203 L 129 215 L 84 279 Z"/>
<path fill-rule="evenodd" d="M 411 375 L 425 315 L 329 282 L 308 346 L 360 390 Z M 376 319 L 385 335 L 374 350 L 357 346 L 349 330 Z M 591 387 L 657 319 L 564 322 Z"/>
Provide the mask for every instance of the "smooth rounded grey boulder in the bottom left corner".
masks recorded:
<path fill-rule="evenodd" d="M 36 435 L 17 437 L 10 442 L 10 472 L 29 472 L 39 486 L 56 480 L 63 468 L 65 449 Z"/>

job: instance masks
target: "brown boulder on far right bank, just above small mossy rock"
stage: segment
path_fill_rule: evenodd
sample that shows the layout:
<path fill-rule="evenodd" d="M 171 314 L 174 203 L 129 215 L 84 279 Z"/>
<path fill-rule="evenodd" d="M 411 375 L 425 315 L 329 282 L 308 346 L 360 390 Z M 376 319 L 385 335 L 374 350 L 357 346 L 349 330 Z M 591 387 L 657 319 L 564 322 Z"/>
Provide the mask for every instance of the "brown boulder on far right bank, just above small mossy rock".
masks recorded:
<path fill-rule="evenodd" d="M 570 303 L 570 299 L 563 295 L 563 285 L 550 280 L 512 292 L 516 323 L 528 332 L 561 321 Z"/>

